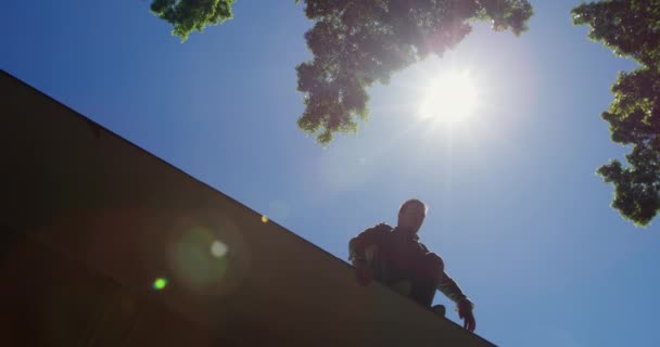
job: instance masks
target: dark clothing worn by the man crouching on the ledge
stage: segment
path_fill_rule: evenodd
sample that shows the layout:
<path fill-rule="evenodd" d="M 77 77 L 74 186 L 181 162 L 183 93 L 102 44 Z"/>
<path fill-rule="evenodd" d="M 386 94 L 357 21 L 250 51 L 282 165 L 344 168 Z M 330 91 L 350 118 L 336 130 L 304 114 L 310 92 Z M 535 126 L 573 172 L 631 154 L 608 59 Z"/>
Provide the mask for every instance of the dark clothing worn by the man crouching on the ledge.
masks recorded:
<path fill-rule="evenodd" d="M 442 258 L 429 252 L 417 234 L 381 223 L 353 237 L 348 254 L 352 261 L 366 261 L 377 281 L 395 290 L 403 287 L 397 292 L 422 306 L 431 306 L 435 290 L 457 304 L 467 300 L 458 284 L 444 271 Z"/>

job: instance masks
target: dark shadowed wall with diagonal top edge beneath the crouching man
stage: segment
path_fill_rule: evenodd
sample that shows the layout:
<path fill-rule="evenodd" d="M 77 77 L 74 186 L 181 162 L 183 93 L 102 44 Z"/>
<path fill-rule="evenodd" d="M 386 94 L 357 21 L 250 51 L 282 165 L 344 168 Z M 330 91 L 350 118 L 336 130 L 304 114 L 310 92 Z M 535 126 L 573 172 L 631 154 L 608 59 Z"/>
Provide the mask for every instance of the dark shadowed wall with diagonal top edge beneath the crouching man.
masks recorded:
<path fill-rule="evenodd" d="M 0 90 L 0 343 L 492 346 L 4 73 Z"/>

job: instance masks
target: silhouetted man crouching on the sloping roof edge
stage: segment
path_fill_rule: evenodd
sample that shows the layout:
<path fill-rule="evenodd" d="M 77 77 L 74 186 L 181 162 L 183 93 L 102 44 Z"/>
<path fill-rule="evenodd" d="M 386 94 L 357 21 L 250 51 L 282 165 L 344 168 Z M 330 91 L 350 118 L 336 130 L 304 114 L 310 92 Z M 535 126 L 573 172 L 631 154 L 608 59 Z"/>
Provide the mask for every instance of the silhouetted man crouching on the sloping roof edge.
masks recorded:
<path fill-rule="evenodd" d="M 401 206 L 396 228 L 381 223 L 353 237 L 348 243 L 348 259 L 355 267 L 357 281 L 367 285 L 376 279 L 444 316 L 444 307 L 431 308 L 439 290 L 456 303 L 464 327 L 473 332 L 477 327 L 472 314 L 474 305 L 444 271 L 442 258 L 419 242 L 417 232 L 426 216 L 427 206 L 412 198 Z"/>

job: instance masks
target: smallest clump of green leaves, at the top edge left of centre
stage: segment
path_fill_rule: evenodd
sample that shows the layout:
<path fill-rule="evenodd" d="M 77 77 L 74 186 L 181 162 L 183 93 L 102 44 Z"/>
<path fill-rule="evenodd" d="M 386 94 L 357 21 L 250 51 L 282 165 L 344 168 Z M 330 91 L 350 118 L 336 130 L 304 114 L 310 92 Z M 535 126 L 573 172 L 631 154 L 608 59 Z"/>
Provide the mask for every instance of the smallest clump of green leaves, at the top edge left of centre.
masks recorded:
<path fill-rule="evenodd" d="M 202 31 L 210 24 L 223 23 L 232 17 L 234 0 L 153 0 L 151 11 L 167 21 L 173 35 L 186 41 L 192 30 Z"/>

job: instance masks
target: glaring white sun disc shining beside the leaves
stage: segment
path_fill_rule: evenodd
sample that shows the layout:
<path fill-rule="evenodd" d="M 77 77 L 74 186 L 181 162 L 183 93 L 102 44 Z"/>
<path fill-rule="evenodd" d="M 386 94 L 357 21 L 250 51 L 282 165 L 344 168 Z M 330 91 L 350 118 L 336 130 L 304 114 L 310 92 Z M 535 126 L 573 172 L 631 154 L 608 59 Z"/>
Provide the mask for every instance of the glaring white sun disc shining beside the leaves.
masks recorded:
<path fill-rule="evenodd" d="M 419 107 L 422 119 L 461 123 L 477 108 L 477 88 L 468 70 L 452 70 L 431 80 Z"/>

